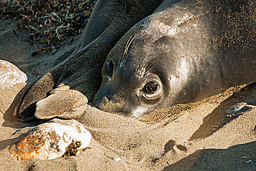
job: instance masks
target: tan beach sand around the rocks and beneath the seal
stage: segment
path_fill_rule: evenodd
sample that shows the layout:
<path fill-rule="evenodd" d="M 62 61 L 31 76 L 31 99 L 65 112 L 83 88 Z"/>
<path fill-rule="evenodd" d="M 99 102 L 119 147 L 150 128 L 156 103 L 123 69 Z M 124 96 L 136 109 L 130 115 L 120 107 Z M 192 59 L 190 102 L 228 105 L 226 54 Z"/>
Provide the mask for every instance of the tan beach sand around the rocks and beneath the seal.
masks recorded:
<path fill-rule="evenodd" d="M 18 66 L 28 81 L 64 60 L 58 57 L 68 56 L 76 47 L 76 41 L 66 41 L 55 54 L 32 58 L 35 45 L 24 41 L 13 23 L 0 24 L 0 59 Z M 0 88 L 0 171 L 256 170 L 256 84 L 231 87 L 201 102 L 137 119 L 89 107 L 77 119 L 92 134 L 88 149 L 77 156 L 19 161 L 10 155 L 9 147 L 40 123 L 17 122 L 8 112 L 25 85 Z M 227 109 L 239 102 L 251 106 L 227 115 Z M 116 157 L 121 160 L 115 161 Z"/>

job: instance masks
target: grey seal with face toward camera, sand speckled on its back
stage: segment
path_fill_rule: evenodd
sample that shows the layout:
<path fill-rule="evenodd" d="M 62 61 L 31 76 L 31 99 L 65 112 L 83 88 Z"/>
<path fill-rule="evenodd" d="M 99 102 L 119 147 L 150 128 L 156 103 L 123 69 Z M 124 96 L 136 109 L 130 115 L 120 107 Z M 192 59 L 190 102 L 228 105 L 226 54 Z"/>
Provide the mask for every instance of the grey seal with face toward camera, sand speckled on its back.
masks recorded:
<path fill-rule="evenodd" d="M 165 0 L 102 68 L 96 107 L 141 116 L 256 82 L 255 0 Z"/>

